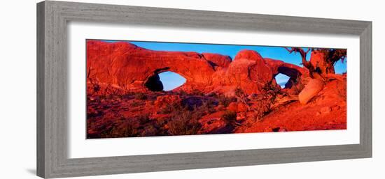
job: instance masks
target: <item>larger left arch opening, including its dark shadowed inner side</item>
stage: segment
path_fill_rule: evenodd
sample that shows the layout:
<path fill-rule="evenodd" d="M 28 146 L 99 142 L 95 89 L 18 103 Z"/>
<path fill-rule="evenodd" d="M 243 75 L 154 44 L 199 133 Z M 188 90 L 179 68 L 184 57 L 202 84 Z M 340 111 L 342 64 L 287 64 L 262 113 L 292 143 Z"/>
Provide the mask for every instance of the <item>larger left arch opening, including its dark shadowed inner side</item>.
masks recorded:
<path fill-rule="evenodd" d="M 150 91 L 172 91 L 185 83 L 186 78 L 178 73 L 159 70 L 155 71 L 153 76 L 148 77 L 144 86 Z"/>

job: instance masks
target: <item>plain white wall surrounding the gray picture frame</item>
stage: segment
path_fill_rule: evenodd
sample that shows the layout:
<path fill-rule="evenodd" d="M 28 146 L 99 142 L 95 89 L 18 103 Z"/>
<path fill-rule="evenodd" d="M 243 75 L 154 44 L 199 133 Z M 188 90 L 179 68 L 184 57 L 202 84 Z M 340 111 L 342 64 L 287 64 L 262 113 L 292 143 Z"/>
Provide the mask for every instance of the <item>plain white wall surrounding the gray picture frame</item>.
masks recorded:
<path fill-rule="evenodd" d="M 78 0 L 80 1 L 80 0 Z M 0 18 L 0 178 L 38 178 L 36 172 L 36 2 L 3 1 Z M 373 158 L 134 173 L 85 178 L 385 178 L 385 18 L 382 1 L 106 1 L 134 6 L 373 21 Z M 382 170 L 381 170 L 382 169 Z"/>

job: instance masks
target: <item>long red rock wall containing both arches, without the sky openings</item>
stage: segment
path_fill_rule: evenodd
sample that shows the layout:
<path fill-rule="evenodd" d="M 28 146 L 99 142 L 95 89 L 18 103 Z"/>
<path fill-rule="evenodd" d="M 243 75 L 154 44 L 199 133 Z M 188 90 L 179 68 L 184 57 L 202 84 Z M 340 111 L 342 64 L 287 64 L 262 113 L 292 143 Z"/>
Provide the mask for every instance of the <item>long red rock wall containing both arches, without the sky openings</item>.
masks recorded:
<path fill-rule="evenodd" d="M 266 85 L 277 86 L 275 75 L 288 75 L 293 84 L 309 77 L 299 66 L 263 59 L 258 52 L 243 50 L 235 56 L 196 52 L 153 51 L 129 42 L 87 40 L 87 88 L 89 93 L 162 91 L 158 74 L 176 72 L 186 83 L 175 90 L 202 93 L 261 93 Z"/>

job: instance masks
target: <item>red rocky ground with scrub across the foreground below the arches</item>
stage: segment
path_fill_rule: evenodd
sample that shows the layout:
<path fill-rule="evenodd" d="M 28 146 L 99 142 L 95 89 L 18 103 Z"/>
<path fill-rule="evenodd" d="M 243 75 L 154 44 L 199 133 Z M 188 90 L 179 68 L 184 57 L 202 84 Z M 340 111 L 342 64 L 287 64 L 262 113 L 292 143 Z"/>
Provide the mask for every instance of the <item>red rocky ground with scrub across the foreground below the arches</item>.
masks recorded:
<path fill-rule="evenodd" d="M 244 98 L 183 92 L 89 96 L 87 137 L 343 130 L 344 83 L 328 81 L 307 104 L 283 91 Z"/>

